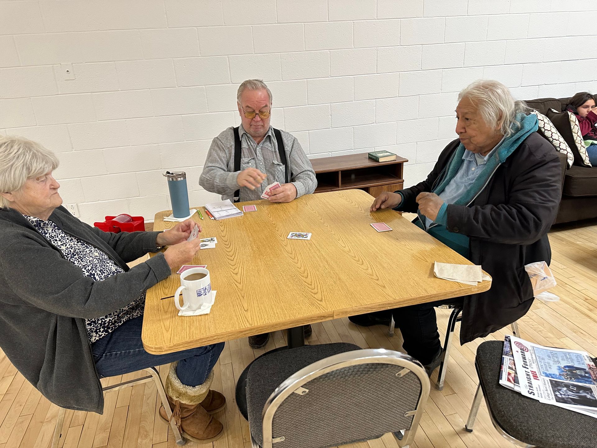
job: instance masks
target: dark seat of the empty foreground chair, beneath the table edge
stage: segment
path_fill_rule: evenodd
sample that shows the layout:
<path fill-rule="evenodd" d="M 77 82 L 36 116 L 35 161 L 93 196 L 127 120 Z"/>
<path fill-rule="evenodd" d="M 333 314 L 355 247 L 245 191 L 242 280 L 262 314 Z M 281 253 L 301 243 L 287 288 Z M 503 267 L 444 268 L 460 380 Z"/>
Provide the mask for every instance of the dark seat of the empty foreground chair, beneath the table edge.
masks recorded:
<path fill-rule="evenodd" d="M 338 353 L 360 350 L 358 345 L 338 342 L 305 345 L 298 348 L 267 352 L 251 364 L 247 375 L 247 412 L 253 438 L 263 444 L 261 412 L 272 392 L 298 370 Z"/>

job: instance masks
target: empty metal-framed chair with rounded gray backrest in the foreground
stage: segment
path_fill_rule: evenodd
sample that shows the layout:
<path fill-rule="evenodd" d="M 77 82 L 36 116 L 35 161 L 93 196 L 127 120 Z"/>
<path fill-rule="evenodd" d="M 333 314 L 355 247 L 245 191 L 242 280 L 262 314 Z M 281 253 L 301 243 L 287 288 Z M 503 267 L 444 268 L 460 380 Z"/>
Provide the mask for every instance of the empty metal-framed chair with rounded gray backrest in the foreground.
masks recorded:
<path fill-rule="evenodd" d="M 429 387 L 423 366 L 396 351 L 331 343 L 266 353 L 247 376 L 251 446 L 321 448 L 392 432 L 408 447 Z"/>

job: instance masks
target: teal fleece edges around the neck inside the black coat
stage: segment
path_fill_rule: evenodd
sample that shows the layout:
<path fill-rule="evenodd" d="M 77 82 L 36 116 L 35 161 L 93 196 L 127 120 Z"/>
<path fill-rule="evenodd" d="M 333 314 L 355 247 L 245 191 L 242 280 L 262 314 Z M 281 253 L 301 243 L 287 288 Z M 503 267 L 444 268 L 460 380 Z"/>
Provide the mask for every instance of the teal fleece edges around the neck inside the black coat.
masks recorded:
<path fill-rule="evenodd" d="M 482 171 L 482 173 L 475 179 L 473 185 L 466 192 L 466 194 L 462 195 L 458 200 L 454 202 L 455 205 L 466 205 L 468 204 L 475 195 L 481 191 L 487 179 L 491 176 L 495 168 L 506 161 L 507 157 L 512 154 L 518 146 L 524 142 L 524 140 L 532 133 L 536 132 L 539 128 L 537 115 L 531 113 L 530 115 L 524 115 L 524 113 L 519 113 L 516 115 L 516 121 L 521 124 L 521 127 L 515 133 L 511 134 L 509 137 L 506 137 L 503 142 L 501 142 L 500 147 L 494 153 L 494 155 L 487 161 L 487 166 Z M 515 126 L 516 124 L 513 124 Z M 433 193 L 439 195 L 444 188 L 450 181 L 456 176 L 458 170 L 460 169 L 460 165 L 463 163 L 462 156 L 464 155 L 464 145 L 460 143 L 454 156 L 452 157 L 450 164 L 448 165 L 446 175 L 439 185 L 433 189 Z"/>

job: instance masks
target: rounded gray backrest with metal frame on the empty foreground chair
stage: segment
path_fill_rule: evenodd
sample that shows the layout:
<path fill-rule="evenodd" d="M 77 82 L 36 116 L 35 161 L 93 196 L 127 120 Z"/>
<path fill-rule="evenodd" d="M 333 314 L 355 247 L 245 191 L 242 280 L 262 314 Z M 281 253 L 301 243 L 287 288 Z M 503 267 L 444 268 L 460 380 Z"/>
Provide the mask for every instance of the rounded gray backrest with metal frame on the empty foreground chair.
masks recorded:
<path fill-rule="evenodd" d="M 384 349 L 340 353 L 299 370 L 263 407 L 263 448 L 321 448 L 414 433 L 429 378 L 413 357 Z"/>

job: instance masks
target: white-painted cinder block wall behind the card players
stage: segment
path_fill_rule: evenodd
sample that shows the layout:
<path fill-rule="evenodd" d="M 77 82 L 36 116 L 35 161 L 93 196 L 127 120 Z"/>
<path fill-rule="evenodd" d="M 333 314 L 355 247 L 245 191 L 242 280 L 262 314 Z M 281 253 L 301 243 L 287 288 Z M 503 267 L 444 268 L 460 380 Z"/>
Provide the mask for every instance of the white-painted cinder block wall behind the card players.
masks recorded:
<path fill-rule="evenodd" d="M 86 222 L 192 205 L 211 139 L 263 78 L 272 124 L 309 157 L 387 149 L 423 179 L 455 137 L 458 91 L 494 78 L 519 99 L 597 91 L 597 2 L 583 0 L 0 1 L 0 132 L 59 152 Z M 65 79 L 72 64 L 75 79 Z"/>

